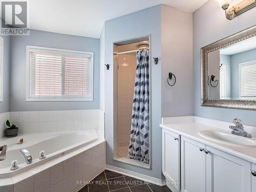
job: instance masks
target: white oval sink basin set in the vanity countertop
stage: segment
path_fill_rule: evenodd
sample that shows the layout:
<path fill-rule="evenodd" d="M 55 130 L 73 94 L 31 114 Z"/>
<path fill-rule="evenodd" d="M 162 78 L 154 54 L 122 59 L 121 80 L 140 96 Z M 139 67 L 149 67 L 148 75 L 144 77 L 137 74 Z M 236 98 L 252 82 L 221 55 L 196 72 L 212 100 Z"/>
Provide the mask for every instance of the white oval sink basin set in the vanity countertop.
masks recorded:
<path fill-rule="evenodd" d="M 199 135 L 207 139 L 225 144 L 256 147 L 256 140 L 247 137 L 237 136 L 231 133 L 225 133 L 216 130 L 205 130 L 200 131 Z"/>

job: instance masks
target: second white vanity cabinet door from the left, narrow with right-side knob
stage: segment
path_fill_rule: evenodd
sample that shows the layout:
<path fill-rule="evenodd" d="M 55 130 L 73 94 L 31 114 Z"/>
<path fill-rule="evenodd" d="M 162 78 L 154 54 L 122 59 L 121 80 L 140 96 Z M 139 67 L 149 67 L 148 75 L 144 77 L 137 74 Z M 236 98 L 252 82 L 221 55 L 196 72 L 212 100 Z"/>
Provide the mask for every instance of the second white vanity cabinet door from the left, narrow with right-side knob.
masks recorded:
<path fill-rule="evenodd" d="M 205 192 L 204 148 L 204 144 L 181 136 L 181 191 Z"/>

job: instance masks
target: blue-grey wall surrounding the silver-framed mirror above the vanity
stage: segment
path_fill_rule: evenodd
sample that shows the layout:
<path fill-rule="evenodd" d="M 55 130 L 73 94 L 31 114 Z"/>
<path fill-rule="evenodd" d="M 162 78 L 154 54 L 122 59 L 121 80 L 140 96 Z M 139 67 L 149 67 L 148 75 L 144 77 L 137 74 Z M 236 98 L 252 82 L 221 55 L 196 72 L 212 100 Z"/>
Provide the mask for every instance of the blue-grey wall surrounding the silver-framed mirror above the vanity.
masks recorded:
<path fill-rule="evenodd" d="M 234 17 L 232 20 L 228 20 L 218 2 L 214 0 L 209 0 L 193 13 L 195 115 L 224 121 L 232 121 L 233 118 L 238 117 L 243 121 L 244 124 L 256 125 L 256 111 L 201 106 L 200 54 L 200 49 L 202 47 L 255 25 L 255 14 L 256 9 L 254 8 L 237 17 Z"/>

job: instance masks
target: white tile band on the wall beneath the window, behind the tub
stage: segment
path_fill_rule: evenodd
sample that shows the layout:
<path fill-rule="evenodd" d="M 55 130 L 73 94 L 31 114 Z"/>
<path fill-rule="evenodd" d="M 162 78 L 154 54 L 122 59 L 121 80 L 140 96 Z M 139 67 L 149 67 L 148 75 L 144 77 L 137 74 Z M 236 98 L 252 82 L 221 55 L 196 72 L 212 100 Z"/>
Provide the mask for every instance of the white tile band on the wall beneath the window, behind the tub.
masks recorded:
<path fill-rule="evenodd" d="M 10 122 L 19 127 L 20 134 L 103 130 L 104 113 L 101 110 L 10 112 Z"/>

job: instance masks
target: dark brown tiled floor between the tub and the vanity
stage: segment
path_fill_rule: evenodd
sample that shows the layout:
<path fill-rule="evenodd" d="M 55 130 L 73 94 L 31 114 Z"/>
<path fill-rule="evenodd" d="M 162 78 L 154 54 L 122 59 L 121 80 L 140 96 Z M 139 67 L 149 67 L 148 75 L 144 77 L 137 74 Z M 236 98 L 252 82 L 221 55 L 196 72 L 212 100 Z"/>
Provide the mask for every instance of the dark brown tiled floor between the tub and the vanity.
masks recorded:
<path fill-rule="evenodd" d="M 78 192 L 172 192 L 167 186 L 147 184 L 144 181 L 104 170 L 89 185 Z"/>

